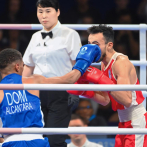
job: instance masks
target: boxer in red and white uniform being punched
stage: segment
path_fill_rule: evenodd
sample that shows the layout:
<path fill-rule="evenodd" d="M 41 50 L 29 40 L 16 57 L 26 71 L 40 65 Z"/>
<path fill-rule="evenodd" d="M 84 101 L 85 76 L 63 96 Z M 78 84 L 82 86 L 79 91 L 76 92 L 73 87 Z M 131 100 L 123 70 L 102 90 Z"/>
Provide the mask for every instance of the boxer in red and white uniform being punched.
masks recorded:
<path fill-rule="evenodd" d="M 89 44 L 97 44 L 102 52 L 99 61 L 101 70 L 89 67 L 77 83 L 87 84 L 134 84 L 138 85 L 136 70 L 126 55 L 113 48 L 114 32 L 106 25 L 92 26 L 88 29 Z M 69 93 L 79 94 L 78 91 Z M 118 111 L 119 128 L 147 128 L 147 113 L 142 105 L 144 97 L 141 91 L 80 91 L 80 94 L 107 105 Z M 115 147 L 146 147 L 147 135 L 116 135 Z"/>

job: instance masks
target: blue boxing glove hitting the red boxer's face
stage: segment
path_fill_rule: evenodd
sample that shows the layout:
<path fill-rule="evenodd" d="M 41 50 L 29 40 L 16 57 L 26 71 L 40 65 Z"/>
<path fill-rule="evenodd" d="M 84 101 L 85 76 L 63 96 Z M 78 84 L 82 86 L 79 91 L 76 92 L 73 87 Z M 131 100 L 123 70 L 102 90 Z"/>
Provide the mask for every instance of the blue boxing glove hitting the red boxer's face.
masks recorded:
<path fill-rule="evenodd" d="M 77 57 L 76 63 L 73 69 L 77 69 L 84 74 L 86 69 L 91 65 L 92 62 L 97 62 L 101 57 L 101 49 L 96 44 L 87 44 L 81 47 Z"/>

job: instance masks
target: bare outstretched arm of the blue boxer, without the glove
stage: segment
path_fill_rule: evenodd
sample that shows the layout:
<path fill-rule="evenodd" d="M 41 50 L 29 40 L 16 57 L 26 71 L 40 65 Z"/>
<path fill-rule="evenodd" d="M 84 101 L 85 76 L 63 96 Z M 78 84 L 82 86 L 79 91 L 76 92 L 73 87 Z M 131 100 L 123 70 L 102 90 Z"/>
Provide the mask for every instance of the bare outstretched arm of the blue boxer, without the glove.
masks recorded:
<path fill-rule="evenodd" d="M 81 76 L 79 70 L 72 70 L 61 77 L 46 78 L 41 75 L 32 75 L 31 77 L 23 77 L 23 83 L 28 84 L 74 84 Z"/>

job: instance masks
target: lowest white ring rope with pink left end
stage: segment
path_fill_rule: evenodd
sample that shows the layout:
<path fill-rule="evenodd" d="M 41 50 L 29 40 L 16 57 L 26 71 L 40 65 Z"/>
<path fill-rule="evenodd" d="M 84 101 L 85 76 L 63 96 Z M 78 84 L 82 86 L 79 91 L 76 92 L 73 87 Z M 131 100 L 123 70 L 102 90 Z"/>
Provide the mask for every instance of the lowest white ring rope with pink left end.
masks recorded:
<path fill-rule="evenodd" d="M 0 128 L 0 134 L 147 134 L 145 128 L 69 127 L 69 128 Z"/>

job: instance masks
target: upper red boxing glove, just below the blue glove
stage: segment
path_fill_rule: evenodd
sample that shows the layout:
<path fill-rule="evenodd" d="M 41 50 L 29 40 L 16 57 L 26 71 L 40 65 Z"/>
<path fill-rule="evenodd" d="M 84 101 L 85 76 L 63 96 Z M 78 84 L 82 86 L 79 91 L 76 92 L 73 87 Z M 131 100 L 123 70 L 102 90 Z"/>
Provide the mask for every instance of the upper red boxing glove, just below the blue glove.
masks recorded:
<path fill-rule="evenodd" d="M 114 84 L 113 81 L 105 76 L 101 70 L 92 66 L 87 69 L 81 79 L 88 80 L 94 84 Z"/>

